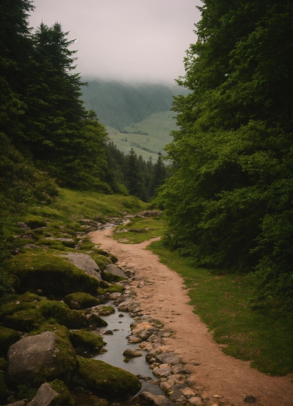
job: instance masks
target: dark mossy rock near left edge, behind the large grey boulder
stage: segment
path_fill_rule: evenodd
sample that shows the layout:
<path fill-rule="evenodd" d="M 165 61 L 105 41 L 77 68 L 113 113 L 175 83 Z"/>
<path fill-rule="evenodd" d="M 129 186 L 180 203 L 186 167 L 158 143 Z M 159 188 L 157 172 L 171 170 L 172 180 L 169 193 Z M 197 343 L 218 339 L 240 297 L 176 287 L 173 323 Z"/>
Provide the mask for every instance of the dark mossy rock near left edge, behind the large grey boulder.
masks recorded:
<path fill-rule="evenodd" d="M 36 309 L 21 310 L 11 316 L 6 316 L 3 324 L 5 327 L 18 329 L 19 331 L 36 330 L 46 319 Z"/>

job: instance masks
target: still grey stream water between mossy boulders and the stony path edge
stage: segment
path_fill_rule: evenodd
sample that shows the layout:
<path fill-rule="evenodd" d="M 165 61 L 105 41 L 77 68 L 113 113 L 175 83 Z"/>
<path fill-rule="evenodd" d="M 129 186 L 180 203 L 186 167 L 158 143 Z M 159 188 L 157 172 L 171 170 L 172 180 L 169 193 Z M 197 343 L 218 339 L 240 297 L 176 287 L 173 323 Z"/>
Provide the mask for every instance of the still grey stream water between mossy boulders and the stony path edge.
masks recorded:
<path fill-rule="evenodd" d="M 127 342 L 127 336 L 129 336 L 131 332 L 130 324 L 132 323 L 133 319 L 126 312 L 118 312 L 117 307 L 113 304 L 113 302 L 108 302 L 107 305 L 113 306 L 116 309 L 114 314 L 103 316 L 103 318 L 108 322 L 108 326 L 105 329 L 112 330 L 113 335 L 104 335 L 100 332 L 104 338 L 104 341 L 107 343 L 107 345 L 104 347 L 107 349 L 107 352 L 97 354 L 93 356 L 93 358 L 100 359 L 101 361 L 107 362 L 115 367 L 122 368 L 131 372 L 131 374 L 142 375 L 150 378 L 148 380 L 140 379 L 142 383 L 142 390 L 147 389 L 154 395 L 164 395 L 164 392 L 157 384 L 151 383 L 156 381 L 157 378 L 152 374 L 149 364 L 146 362 L 146 351 L 142 351 L 143 355 L 141 357 L 132 358 L 129 362 L 123 361 L 125 358 L 123 351 L 126 348 L 138 348 L 139 346 L 139 344 L 128 344 Z M 119 317 L 119 314 L 123 314 L 124 317 Z M 103 330 L 101 329 L 101 331 Z"/>

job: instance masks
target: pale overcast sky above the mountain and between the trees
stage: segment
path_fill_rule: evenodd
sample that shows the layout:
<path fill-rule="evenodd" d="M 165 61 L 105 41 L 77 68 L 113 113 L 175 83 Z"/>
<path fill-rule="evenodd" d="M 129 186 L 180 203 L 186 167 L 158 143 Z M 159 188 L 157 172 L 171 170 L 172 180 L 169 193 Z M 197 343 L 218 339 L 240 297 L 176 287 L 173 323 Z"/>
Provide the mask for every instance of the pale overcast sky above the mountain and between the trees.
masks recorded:
<path fill-rule="evenodd" d="M 62 24 L 77 38 L 84 77 L 173 82 L 196 41 L 200 0 L 34 0 L 30 25 Z"/>

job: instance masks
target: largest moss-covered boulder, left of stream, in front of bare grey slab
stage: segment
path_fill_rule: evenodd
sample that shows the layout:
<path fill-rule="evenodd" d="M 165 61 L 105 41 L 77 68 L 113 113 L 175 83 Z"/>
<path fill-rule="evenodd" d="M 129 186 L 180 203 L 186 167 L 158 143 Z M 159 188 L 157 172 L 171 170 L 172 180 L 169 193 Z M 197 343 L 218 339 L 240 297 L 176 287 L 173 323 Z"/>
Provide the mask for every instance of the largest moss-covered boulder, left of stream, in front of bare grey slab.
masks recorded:
<path fill-rule="evenodd" d="M 5 265 L 19 278 L 24 289 L 41 289 L 44 294 L 63 296 L 77 291 L 95 294 L 99 287 L 97 279 L 53 253 L 27 252 L 6 261 Z"/>

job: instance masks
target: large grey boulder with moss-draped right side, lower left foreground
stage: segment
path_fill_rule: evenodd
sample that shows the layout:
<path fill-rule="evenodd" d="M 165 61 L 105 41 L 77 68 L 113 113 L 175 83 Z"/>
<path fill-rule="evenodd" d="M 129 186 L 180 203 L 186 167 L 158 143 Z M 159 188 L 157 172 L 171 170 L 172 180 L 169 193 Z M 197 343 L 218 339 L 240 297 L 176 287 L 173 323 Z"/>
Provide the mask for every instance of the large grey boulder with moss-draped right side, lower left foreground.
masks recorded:
<path fill-rule="evenodd" d="M 69 340 L 62 341 L 62 353 L 59 352 L 57 339 L 54 332 L 45 331 L 13 344 L 7 354 L 10 379 L 23 384 L 59 377 L 68 381 L 76 365 L 75 352 Z"/>

